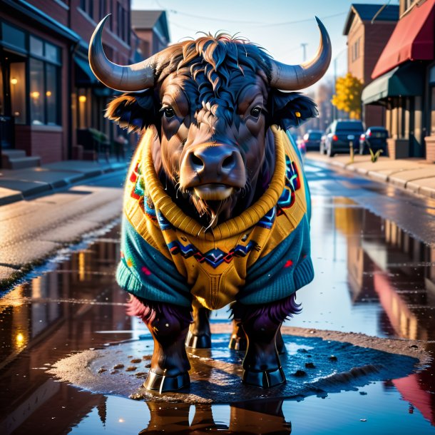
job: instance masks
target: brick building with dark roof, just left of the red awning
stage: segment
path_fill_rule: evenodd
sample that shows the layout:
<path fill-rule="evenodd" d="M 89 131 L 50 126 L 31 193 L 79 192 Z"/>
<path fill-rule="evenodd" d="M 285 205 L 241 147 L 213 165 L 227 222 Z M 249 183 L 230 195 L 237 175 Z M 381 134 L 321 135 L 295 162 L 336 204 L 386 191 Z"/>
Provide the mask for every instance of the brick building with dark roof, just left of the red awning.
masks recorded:
<path fill-rule="evenodd" d="M 352 4 L 344 24 L 347 36 L 347 71 L 364 86 L 372 82 L 372 71 L 399 19 L 399 6 Z M 382 126 L 382 106 L 364 106 L 362 120 L 367 127 Z"/>

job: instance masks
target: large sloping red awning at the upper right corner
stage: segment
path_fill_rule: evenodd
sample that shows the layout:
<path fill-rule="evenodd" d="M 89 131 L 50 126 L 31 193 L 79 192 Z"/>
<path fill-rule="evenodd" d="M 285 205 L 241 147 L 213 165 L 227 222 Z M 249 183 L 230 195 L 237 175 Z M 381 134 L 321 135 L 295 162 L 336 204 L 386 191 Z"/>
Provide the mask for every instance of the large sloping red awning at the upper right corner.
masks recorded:
<path fill-rule="evenodd" d="M 405 61 L 431 61 L 434 58 L 435 0 L 414 6 L 400 19 L 372 72 L 382 76 Z"/>

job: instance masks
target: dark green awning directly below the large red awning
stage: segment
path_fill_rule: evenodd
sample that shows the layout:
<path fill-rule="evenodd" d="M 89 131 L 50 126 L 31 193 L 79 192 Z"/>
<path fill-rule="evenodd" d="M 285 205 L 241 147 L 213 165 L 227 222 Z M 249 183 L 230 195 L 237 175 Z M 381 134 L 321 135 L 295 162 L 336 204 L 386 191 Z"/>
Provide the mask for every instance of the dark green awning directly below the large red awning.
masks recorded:
<path fill-rule="evenodd" d="M 378 77 L 362 91 L 362 103 L 372 104 L 388 97 L 409 97 L 424 93 L 424 66 L 420 62 L 409 62 L 396 66 Z"/>

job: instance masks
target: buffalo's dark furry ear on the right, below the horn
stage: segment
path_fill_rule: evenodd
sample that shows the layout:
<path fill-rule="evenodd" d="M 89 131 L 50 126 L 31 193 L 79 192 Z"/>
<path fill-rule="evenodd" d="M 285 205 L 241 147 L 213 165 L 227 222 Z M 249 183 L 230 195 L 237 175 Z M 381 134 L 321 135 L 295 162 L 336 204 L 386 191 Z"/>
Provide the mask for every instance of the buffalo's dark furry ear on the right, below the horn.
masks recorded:
<path fill-rule="evenodd" d="M 299 92 L 282 92 L 272 89 L 269 94 L 270 124 L 284 130 L 300 126 L 309 118 L 317 118 L 317 105 L 311 98 Z"/>

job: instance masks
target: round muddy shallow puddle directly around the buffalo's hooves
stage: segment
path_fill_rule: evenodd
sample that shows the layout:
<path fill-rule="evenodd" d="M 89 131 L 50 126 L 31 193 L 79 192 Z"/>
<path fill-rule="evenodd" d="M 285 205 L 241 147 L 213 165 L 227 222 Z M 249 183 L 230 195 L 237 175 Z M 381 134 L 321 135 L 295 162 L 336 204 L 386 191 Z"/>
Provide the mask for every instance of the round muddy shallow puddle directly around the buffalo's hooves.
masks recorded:
<path fill-rule="evenodd" d="M 230 334 L 214 334 L 213 337 L 212 349 L 188 349 L 192 366 L 188 391 L 154 394 L 142 388 L 153 349 L 150 338 L 73 354 L 56 362 L 48 373 L 92 392 L 137 400 L 232 403 L 249 401 L 256 396 L 262 399 L 327 396 L 364 387 L 370 382 L 406 377 L 419 362 L 414 342 L 403 344 L 389 340 L 388 344 L 383 344 L 377 339 L 370 341 L 371 347 L 359 347 L 319 337 L 283 335 L 286 347 L 296 348 L 296 352 L 281 357 L 287 382 L 273 389 L 258 389 L 241 384 L 244 352 L 227 348 Z M 361 342 L 363 340 L 361 337 Z M 367 339 L 364 344 L 368 344 Z M 409 353 L 413 356 L 372 348 L 382 345 L 399 352 L 396 344 L 411 349 Z"/>

